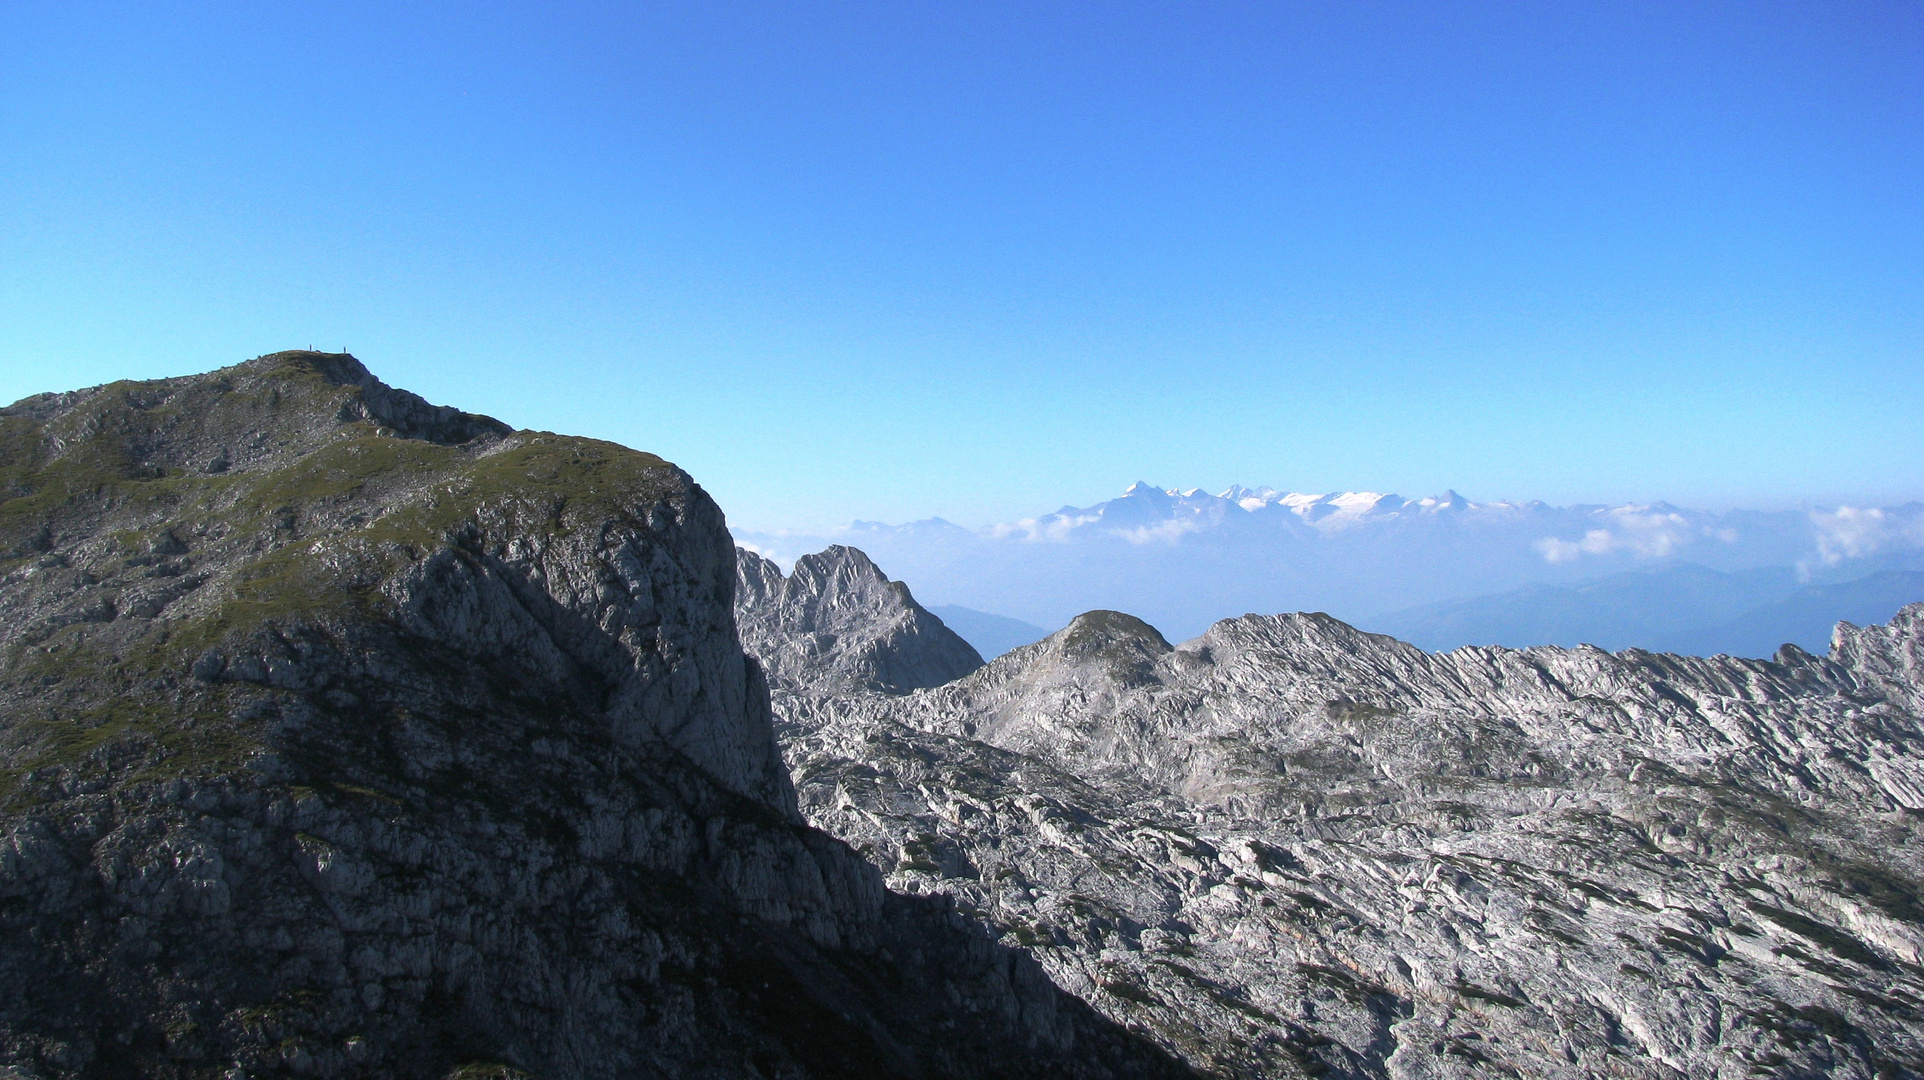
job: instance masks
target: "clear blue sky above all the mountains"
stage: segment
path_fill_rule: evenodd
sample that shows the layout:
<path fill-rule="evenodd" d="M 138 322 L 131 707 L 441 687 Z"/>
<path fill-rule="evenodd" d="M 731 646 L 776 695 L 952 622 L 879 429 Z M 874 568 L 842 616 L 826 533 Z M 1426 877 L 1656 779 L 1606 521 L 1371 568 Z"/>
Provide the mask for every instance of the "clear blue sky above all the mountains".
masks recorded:
<path fill-rule="evenodd" d="M 0 399 L 306 345 L 754 527 L 1916 499 L 1924 6 L 0 6 Z"/>

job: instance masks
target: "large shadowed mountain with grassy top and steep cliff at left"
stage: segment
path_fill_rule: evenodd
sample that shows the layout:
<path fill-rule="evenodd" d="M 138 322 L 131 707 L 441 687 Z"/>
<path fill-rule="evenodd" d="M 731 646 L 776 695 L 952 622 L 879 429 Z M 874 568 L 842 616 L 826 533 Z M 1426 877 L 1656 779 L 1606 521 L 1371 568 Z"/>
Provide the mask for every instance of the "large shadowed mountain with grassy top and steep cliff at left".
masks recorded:
<path fill-rule="evenodd" d="M 802 824 L 660 458 L 275 354 L 0 410 L 0 1072 L 1179 1072 Z"/>

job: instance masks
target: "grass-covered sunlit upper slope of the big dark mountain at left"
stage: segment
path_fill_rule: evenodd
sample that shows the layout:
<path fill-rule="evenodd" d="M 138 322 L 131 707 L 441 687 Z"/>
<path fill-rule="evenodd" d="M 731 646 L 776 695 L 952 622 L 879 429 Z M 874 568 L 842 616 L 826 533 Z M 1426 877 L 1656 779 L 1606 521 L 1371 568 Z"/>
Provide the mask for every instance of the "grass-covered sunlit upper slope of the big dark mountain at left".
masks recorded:
<path fill-rule="evenodd" d="M 206 579 L 173 618 L 15 639 L 4 674 L 31 697 L 0 730 L 0 799 L 31 797 L 33 770 L 98 772 L 112 747 L 140 747 L 167 774 L 231 768 L 262 743 L 233 699 L 258 691 L 194 681 L 206 651 L 296 628 L 339 639 L 342 624 L 389 618 L 381 583 L 431 551 L 643 529 L 687 485 L 662 458 L 595 439 L 400 439 L 348 418 L 360 391 L 331 381 L 325 358 L 266 360 L 0 410 L 0 572 L 58 549 L 50 574 L 67 578 L 48 603 L 73 587 L 114 601 L 156 574 Z M 225 472 L 229 450 L 283 464 Z"/>

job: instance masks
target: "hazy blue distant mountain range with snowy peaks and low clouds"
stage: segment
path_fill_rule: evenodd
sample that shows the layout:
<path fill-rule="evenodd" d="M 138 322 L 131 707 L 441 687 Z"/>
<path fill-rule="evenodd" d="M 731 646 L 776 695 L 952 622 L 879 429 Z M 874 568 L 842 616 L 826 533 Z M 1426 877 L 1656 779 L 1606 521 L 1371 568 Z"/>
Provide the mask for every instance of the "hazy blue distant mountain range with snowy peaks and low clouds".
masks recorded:
<path fill-rule="evenodd" d="M 929 518 L 827 533 L 735 531 L 775 562 L 854 545 L 910 581 L 985 656 L 999 631 L 1137 612 L 1174 637 L 1245 612 L 1324 610 L 1426 649 L 1595 643 L 1822 651 L 1830 624 L 1924 599 L 1924 502 L 1705 512 L 1474 502 L 1445 491 L 1308 495 L 1149 483 L 1095 506 L 972 529 Z M 979 637 L 979 641 L 977 641 Z"/>

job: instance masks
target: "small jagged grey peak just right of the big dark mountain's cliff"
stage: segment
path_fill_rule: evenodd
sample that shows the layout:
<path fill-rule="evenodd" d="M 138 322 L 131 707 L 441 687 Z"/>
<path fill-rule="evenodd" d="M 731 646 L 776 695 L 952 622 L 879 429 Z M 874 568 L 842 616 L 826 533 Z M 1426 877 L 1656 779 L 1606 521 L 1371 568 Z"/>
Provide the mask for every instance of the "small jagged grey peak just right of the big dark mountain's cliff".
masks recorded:
<path fill-rule="evenodd" d="M 908 693 L 981 666 L 981 655 L 852 547 L 795 560 L 795 574 L 737 549 L 735 622 L 770 681 L 816 693 Z"/>

